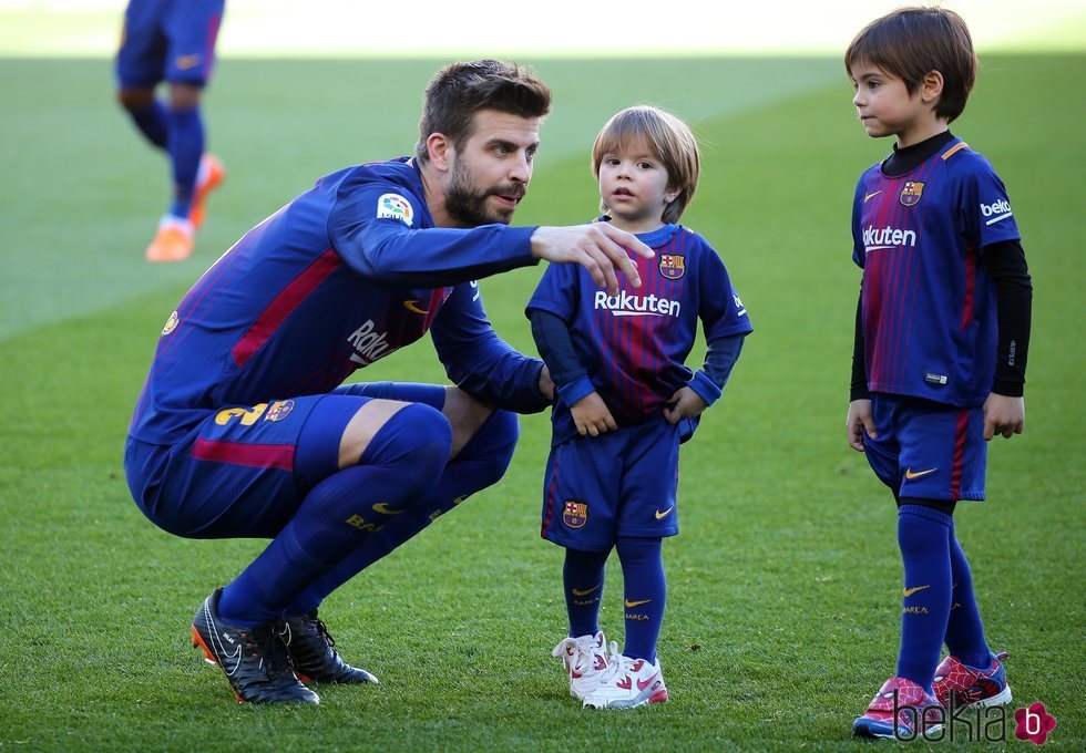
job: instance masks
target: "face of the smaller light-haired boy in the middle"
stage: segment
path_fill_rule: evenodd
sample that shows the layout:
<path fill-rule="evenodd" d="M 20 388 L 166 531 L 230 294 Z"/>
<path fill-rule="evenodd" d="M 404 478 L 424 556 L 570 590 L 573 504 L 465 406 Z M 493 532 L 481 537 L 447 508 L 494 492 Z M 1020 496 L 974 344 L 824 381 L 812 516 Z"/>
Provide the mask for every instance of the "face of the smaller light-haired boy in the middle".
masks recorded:
<path fill-rule="evenodd" d="M 629 233 L 649 233 L 663 225 L 664 209 L 678 195 L 667 183 L 667 168 L 641 140 L 600 161 L 600 197 L 614 224 Z"/>

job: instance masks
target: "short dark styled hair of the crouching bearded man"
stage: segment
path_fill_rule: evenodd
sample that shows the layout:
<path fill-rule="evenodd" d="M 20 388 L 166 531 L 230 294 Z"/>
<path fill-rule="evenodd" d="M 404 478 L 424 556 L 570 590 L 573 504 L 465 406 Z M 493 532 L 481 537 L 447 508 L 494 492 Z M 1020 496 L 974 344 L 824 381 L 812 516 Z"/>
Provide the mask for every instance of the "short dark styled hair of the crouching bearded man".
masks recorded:
<path fill-rule="evenodd" d="M 419 143 L 414 147 L 419 162 L 429 158 L 430 134 L 444 134 L 457 148 L 462 147 L 480 110 L 543 117 L 551 111 L 551 90 L 527 69 L 500 60 L 453 63 L 441 69 L 422 95 Z"/>

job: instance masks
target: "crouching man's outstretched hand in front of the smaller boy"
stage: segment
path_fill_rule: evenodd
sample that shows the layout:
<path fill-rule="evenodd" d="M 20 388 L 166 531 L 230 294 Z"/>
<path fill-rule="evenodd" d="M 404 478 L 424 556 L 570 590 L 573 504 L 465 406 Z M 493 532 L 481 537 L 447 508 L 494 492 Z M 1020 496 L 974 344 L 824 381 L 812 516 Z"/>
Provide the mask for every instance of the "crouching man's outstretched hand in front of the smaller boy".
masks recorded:
<path fill-rule="evenodd" d="M 532 234 L 532 256 L 559 264 L 578 264 L 592 279 L 612 296 L 618 293 L 621 271 L 635 288 L 641 287 L 637 265 L 626 248 L 652 259 L 656 254 L 648 246 L 611 223 L 592 223 L 573 227 L 540 227 Z"/>

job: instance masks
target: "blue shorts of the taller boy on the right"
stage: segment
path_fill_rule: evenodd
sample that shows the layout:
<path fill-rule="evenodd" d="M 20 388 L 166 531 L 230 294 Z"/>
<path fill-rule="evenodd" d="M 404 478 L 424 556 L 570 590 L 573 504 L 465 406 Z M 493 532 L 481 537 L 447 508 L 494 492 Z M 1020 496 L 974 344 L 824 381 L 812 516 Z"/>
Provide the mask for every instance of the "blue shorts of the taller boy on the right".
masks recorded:
<path fill-rule="evenodd" d="M 872 394 L 879 439 L 864 435 L 868 462 L 899 497 L 984 499 L 984 410 Z"/>

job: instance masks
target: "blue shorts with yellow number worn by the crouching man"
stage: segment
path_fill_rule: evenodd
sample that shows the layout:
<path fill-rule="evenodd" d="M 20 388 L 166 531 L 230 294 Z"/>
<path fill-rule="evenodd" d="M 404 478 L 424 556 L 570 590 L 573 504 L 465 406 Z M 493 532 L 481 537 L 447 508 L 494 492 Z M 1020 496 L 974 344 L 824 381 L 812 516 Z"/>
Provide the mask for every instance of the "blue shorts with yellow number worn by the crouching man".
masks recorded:
<path fill-rule="evenodd" d="M 362 405 L 382 398 L 440 410 L 443 395 L 440 386 L 381 382 L 224 408 L 173 445 L 129 437 L 129 488 L 144 515 L 177 536 L 270 538 L 339 471 L 344 430 Z"/>

